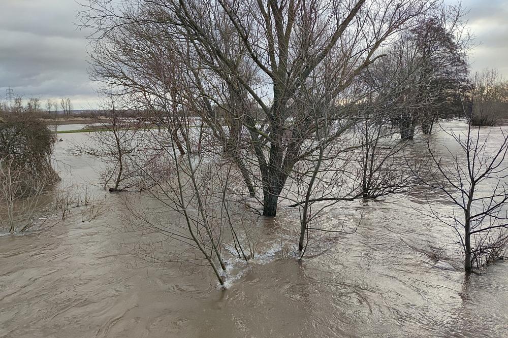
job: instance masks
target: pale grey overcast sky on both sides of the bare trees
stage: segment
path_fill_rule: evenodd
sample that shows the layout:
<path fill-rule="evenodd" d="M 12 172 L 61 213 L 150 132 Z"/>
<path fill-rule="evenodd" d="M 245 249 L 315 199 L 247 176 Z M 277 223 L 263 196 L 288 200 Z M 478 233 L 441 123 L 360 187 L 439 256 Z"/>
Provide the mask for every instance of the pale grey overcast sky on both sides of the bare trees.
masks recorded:
<path fill-rule="evenodd" d="M 496 67 L 508 77 L 508 0 L 463 5 L 479 44 L 472 70 Z M 75 26 L 78 10 L 74 0 L 0 0 L 0 98 L 10 86 L 24 97 L 70 97 L 74 109 L 96 107 L 85 32 Z"/>

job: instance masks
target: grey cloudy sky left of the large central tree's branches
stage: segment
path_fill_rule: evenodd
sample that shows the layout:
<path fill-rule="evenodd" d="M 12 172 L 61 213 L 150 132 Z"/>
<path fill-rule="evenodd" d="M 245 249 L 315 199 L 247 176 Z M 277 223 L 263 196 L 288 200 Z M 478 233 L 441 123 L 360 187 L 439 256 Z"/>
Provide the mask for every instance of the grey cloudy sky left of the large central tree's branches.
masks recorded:
<path fill-rule="evenodd" d="M 81 7 L 73 0 L 2 0 L 0 3 L 0 97 L 71 97 L 90 108 L 97 97 L 89 81 L 86 32 L 76 29 Z"/>

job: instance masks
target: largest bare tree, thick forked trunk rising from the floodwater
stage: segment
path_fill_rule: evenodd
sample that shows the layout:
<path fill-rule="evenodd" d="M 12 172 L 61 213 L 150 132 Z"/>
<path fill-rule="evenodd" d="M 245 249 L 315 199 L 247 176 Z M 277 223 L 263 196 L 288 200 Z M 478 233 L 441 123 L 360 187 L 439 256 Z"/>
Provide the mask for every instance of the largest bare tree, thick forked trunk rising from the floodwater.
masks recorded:
<path fill-rule="evenodd" d="M 326 119 L 330 128 L 323 130 L 335 130 L 327 142 L 341 137 L 355 123 L 332 127 L 351 113 L 339 97 L 347 93 L 350 108 L 361 100 L 369 90 L 352 87 L 359 76 L 437 3 L 139 0 L 115 7 L 93 0 L 83 12 L 83 26 L 95 31 L 95 79 L 145 98 L 168 97 L 140 74 L 152 69 L 142 64 L 158 64 L 153 60 L 161 55 L 147 55 L 146 48 L 165 50 L 172 42 L 192 89 L 179 93 L 186 109 L 226 148 L 241 149 L 238 170 L 249 190 L 261 188 L 263 215 L 275 216 L 295 164 L 318 151 L 302 151 L 304 142 L 315 139 L 315 111 L 298 109 L 302 98 L 311 99 L 304 107 L 334 107 L 335 115 Z M 313 83 L 311 95 L 304 83 Z"/>

